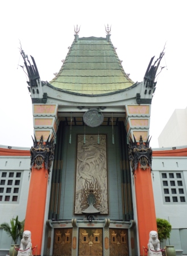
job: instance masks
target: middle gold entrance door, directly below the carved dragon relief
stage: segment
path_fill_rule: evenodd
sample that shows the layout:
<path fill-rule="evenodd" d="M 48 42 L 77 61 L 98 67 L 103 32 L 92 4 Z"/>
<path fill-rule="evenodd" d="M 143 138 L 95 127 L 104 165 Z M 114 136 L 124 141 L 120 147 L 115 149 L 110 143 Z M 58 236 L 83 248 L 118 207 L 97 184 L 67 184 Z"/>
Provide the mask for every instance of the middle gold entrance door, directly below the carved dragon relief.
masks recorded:
<path fill-rule="evenodd" d="M 103 255 L 102 229 L 80 228 L 78 256 Z"/>

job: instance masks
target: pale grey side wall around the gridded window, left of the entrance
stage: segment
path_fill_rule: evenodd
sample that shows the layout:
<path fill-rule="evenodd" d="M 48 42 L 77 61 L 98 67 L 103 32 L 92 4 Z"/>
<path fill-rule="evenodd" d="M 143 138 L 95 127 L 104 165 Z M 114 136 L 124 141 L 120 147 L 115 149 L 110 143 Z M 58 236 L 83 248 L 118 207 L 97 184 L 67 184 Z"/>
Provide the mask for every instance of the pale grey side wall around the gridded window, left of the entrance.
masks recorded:
<path fill-rule="evenodd" d="M 11 172 L 21 172 L 22 180 L 19 186 L 19 201 L 18 202 L 6 202 L 0 201 L 0 216 L 1 221 L 8 222 L 10 224 L 11 218 L 15 218 L 18 215 L 18 220 L 23 221 L 26 214 L 28 188 L 30 180 L 28 179 L 30 171 L 30 156 L 0 156 L 0 180 L 2 172 L 9 174 Z M 11 179 L 11 178 L 10 178 Z M 3 185 L 1 185 L 1 188 Z M 14 184 L 12 189 L 14 188 Z M 11 238 L 6 234 L 5 231 L 0 228 L 0 255 L 5 255 L 10 249 L 12 243 Z"/>

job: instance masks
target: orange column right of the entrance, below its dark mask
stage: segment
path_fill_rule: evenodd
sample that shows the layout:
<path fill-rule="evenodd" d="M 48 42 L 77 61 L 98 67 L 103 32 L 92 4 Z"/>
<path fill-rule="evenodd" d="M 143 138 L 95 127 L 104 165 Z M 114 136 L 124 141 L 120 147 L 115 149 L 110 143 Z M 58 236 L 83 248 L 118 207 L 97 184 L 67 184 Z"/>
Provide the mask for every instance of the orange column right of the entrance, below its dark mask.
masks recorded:
<path fill-rule="evenodd" d="M 138 216 L 140 256 L 143 255 L 143 246 L 147 248 L 149 232 L 157 231 L 155 202 L 152 189 L 150 167 L 143 170 L 139 167 L 135 171 L 136 209 Z M 144 253 L 144 255 L 146 255 Z"/>

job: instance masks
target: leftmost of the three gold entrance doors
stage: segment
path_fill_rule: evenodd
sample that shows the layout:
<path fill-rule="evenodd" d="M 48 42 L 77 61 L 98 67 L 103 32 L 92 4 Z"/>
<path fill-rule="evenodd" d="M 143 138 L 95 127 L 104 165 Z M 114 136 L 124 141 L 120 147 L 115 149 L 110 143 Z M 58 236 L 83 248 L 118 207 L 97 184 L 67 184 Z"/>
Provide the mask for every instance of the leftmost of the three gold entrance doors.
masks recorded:
<path fill-rule="evenodd" d="M 72 229 L 54 229 L 53 256 L 72 255 Z"/>

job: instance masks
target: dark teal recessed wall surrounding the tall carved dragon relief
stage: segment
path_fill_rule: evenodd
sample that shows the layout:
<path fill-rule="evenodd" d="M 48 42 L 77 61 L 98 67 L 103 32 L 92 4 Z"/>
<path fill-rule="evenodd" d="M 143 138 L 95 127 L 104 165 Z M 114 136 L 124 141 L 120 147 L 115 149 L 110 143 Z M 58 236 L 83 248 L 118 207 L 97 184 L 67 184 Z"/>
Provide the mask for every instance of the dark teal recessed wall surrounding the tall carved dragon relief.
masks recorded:
<path fill-rule="evenodd" d="M 86 126 L 87 134 L 98 134 L 97 128 Z M 122 220 L 122 192 L 120 181 L 120 155 L 118 127 L 114 127 L 115 144 L 112 144 L 111 127 L 99 127 L 100 134 L 107 135 L 107 159 L 108 159 L 108 192 L 109 215 L 99 216 L 99 219 L 110 218 Z M 69 127 L 65 127 L 63 181 L 61 189 L 60 219 L 70 220 L 76 217 L 82 220 L 82 216 L 74 216 L 74 183 L 76 171 L 76 140 L 77 134 L 84 134 L 84 127 L 72 127 L 72 143 L 69 144 Z M 67 149 L 66 149 L 67 148 Z M 118 153 L 118 154 L 117 154 Z"/>

